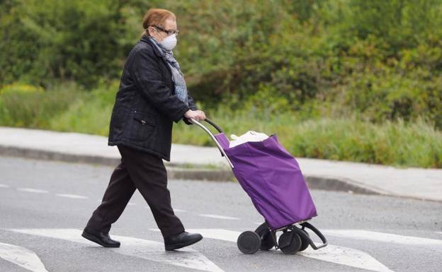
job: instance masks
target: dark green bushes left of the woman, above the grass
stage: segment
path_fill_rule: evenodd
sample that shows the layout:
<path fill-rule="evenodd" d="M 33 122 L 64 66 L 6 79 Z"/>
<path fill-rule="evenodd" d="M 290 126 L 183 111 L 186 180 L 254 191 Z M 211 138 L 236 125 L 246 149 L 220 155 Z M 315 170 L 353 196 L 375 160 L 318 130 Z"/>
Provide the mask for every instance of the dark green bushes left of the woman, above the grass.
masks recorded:
<path fill-rule="evenodd" d="M 140 33 L 124 18 L 131 12 L 123 1 L 7 2 L 0 10 L 0 85 L 61 79 L 90 87 L 100 77 L 118 77 Z"/>

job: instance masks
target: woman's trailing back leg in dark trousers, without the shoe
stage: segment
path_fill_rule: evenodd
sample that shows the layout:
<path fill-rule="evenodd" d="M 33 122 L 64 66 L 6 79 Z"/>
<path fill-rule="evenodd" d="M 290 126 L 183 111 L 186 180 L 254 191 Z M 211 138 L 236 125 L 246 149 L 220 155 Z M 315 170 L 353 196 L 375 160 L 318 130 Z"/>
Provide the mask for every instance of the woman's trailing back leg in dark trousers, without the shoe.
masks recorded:
<path fill-rule="evenodd" d="M 111 230 L 111 225 L 120 218 L 134 191 L 135 185 L 130 179 L 122 156 L 120 165 L 113 170 L 103 200 L 92 213 L 86 229 L 108 233 Z"/>

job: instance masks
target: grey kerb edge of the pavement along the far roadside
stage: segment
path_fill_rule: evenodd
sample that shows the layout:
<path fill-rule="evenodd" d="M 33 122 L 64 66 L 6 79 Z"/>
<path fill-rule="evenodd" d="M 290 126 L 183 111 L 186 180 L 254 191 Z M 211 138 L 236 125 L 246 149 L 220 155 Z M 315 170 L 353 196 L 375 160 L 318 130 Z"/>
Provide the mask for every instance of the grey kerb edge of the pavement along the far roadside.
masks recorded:
<path fill-rule="evenodd" d="M 112 167 L 115 167 L 115 165 L 118 165 L 118 163 L 120 163 L 119 158 L 58 153 L 47 150 L 17 148 L 11 146 L 0 146 L 0 155 L 36 160 L 55 160 L 62 162 L 107 165 Z M 227 169 L 183 168 L 179 167 L 178 164 L 167 163 L 166 170 L 169 179 L 193 179 L 212 182 L 232 182 L 236 180 L 232 170 Z M 305 176 L 305 180 L 310 189 L 319 189 L 326 191 L 345 191 L 354 194 L 391 195 L 386 191 L 369 188 L 366 187 L 364 184 L 358 184 L 357 182 L 344 178 L 339 179 L 334 177 L 319 177 L 308 175 Z"/>

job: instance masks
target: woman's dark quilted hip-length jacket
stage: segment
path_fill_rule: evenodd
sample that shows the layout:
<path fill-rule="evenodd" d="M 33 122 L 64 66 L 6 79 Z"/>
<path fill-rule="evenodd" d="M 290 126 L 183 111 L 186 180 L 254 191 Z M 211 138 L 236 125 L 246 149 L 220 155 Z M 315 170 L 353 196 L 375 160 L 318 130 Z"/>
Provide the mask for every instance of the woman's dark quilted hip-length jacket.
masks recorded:
<path fill-rule="evenodd" d="M 173 122 L 189 109 L 196 110 L 192 97 L 186 105 L 174 93 L 169 66 L 143 35 L 125 62 L 108 145 L 136 148 L 170 161 Z"/>

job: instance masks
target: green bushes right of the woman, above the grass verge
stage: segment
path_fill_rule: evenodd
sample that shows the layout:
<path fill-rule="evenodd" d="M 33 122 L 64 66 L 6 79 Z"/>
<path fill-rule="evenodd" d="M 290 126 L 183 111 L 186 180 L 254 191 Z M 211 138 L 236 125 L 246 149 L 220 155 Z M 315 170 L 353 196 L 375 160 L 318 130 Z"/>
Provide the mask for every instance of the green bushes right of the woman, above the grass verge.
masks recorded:
<path fill-rule="evenodd" d="M 165 5 L 181 18 L 177 56 L 205 105 L 442 128 L 440 1 L 196 3 Z"/>

